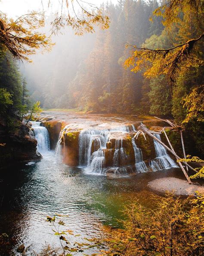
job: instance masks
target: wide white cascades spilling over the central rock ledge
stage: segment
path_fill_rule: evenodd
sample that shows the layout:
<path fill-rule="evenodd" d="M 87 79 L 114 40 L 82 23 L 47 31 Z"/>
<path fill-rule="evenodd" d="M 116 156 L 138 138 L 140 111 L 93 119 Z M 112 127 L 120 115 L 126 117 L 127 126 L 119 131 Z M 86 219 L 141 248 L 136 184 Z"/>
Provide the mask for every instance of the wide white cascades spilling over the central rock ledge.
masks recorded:
<path fill-rule="evenodd" d="M 90 128 L 80 124 L 69 124 L 59 134 L 59 141 L 56 146 L 56 153 L 61 156 L 61 144 L 64 140 L 64 135 L 68 132 L 81 130 L 79 134 L 79 167 L 83 168 L 87 173 L 95 175 L 106 175 L 107 173 L 115 176 L 126 176 L 128 173 L 143 173 L 148 171 L 148 167 L 142 158 L 142 151 L 136 146 L 135 139 L 132 138 L 132 147 L 135 155 L 135 165 L 128 165 L 128 156 L 126 147 L 124 147 L 124 135 L 126 133 L 136 132 L 134 125 L 126 125 L 111 129 L 103 129 L 107 124 L 99 125 L 98 128 Z M 122 135 L 122 136 L 121 136 Z M 116 136 L 114 148 L 109 148 L 108 142 Z M 159 134 L 155 136 L 160 139 Z M 118 138 L 120 137 L 120 138 Z M 113 143 L 111 139 L 111 143 Z M 108 145 L 108 149 L 106 148 Z M 154 141 L 156 158 L 151 160 L 149 165 L 153 171 L 176 167 L 176 163 L 167 154 L 166 149 Z M 114 150 L 113 155 L 108 150 Z M 111 151 L 112 152 L 112 151 Z M 66 154 L 64 152 L 64 154 Z M 111 156 L 111 160 L 110 157 Z M 107 157 L 107 158 L 106 158 Z M 110 162 L 108 162 L 110 161 Z M 110 163 L 111 165 L 108 166 Z"/>

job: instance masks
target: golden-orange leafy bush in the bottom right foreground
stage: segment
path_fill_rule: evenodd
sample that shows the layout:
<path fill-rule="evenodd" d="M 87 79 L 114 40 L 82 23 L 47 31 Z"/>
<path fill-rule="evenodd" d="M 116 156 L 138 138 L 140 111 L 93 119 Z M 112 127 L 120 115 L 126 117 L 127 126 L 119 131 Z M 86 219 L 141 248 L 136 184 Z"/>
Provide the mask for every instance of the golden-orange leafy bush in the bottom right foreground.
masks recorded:
<path fill-rule="evenodd" d="M 152 198 L 153 199 L 153 198 Z M 201 256 L 203 195 L 174 198 L 167 194 L 155 209 L 138 202 L 125 208 L 124 229 L 111 230 L 104 244 L 110 256 Z"/>

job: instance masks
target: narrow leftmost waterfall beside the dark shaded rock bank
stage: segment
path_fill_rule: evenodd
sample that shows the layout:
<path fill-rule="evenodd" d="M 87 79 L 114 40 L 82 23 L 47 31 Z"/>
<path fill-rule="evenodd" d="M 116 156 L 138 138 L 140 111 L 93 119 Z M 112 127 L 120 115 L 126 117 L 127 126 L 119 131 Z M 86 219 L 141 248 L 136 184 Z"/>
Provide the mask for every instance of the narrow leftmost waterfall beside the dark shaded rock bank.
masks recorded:
<path fill-rule="evenodd" d="M 47 129 L 40 126 L 40 122 L 31 122 L 34 129 L 34 135 L 37 140 L 37 151 L 41 154 L 46 154 L 50 149 L 49 145 L 49 133 Z"/>

